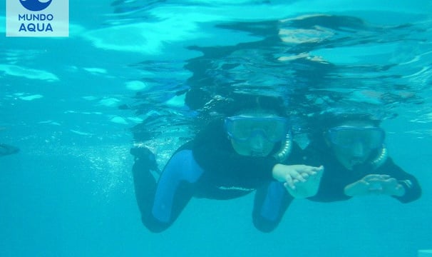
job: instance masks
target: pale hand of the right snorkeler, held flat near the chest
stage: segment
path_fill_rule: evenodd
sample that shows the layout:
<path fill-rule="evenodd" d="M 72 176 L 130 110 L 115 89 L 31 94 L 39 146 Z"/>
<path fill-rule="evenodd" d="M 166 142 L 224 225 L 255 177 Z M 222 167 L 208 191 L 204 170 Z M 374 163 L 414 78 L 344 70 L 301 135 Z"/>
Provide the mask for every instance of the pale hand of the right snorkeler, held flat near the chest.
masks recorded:
<path fill-rule="evenodd" d="M 405 188 L 398 183 L 396 178 L 389 175 L 369 174 L 361 180 L 345 187 L 347 196 L 364 196 L 369 194 L 403 196 Z"/>

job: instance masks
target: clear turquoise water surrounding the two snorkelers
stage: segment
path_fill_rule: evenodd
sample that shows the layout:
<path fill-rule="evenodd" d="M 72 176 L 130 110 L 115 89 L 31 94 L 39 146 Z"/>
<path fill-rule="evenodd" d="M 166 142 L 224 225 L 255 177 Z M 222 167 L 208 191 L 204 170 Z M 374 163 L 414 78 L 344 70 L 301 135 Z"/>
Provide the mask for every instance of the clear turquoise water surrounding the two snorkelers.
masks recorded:
<path fill-rule="evenodd" d="M 430 1 L 143 2 L 71 1 L 68 38 L 1 38 L 0 143 L 21 152 L 0 158 L 0 256 L 432 248 Z M 3 34 L 4 15 L 1 6 Z M 192 108 L 185 91 L 199 93 Z M 297 131 L 320 111 L 382 117 L 391 156 L 422 198 L 298 200 L 269 234 L 252 226 L 252 196 L 194 199 L 168 231 L 146 231 L 129 148 L 143 143 L 163 165 L 197 117 L 212 115 L 202 108 L 230 91 L 283 96 Z"/>

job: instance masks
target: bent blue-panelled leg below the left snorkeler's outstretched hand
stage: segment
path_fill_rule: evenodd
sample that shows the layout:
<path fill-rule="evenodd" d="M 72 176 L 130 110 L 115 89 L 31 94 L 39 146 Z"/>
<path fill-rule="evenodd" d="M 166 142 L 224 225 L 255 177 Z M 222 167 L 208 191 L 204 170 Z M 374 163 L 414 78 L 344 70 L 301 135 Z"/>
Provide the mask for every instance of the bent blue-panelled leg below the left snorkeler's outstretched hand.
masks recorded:
<path fill-rule="evenodd" d="M 293 197 L 282 182 L 272 181 L 255 193 L 252 218 L 254 226 L 262 232 L 271 232 L 279 225 Z"/>

